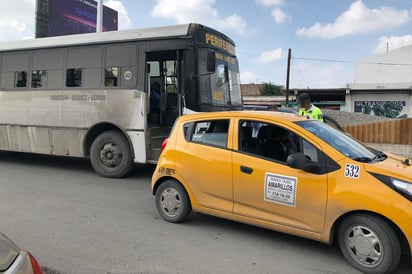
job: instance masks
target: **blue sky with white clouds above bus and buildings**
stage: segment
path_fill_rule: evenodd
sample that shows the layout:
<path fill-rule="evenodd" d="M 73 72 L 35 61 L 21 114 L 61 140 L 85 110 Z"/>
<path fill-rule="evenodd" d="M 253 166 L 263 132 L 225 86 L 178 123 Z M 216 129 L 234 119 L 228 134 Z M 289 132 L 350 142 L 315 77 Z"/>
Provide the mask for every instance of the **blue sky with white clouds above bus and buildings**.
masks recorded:
<path fill-rule="evenodd" d="M 66 0 L 74 1 L 74 0 Z M 356 62 L 412 45 L 412 0 L 103 0 L 119 29 L 184 23 L 235 41 L 242 84 L 344 88 Z M 0 43 L 33 38 L 36 0 L 0 0 Z"/>

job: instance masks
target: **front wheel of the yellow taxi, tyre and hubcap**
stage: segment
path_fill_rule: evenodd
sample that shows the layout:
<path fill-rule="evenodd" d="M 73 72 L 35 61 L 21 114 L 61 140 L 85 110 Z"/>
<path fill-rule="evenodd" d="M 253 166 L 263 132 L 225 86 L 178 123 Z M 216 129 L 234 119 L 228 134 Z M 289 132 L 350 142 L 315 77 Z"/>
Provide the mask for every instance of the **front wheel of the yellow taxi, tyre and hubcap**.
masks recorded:
<path fill-rule="evenodd" d="M 364 273 L 390 273 L 401 258 L 396 233 L 376 216 L 354 215 L 343 220 L 338 242 L 348 262 Z"/>

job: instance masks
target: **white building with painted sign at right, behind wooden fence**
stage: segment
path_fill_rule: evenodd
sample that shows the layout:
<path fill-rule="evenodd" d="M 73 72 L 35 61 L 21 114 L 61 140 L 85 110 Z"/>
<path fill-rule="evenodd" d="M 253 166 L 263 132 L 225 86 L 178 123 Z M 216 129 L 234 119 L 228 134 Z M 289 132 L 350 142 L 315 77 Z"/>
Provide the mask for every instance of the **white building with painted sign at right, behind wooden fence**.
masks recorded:
<path fill-rule="evenodd" d="M 412 45 L 360 61 L 345 110 L 412 117 Z"/>

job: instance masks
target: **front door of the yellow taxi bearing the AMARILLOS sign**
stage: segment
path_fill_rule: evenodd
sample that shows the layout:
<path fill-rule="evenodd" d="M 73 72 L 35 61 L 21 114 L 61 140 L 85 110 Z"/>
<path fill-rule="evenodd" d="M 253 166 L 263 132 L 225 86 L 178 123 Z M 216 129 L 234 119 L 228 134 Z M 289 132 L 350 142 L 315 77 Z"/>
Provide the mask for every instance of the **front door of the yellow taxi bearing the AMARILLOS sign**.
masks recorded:
<path fill-rule="evenodd" d="M 239 130 L 242 124 L 245 123 L 240 121 Z M 294 139 L 300 152 L 313 162 L 320 161 L 321 153 L 315 146 L 297 135 Z M 326 174 L 294 169 L 259 152 L 244 152 L 239 142 L 239 150 L 233 153 L 233 184 L 234 214 L 280 225 L 286 231 L 290 227 L 322 232 L 328 190 Z"/>

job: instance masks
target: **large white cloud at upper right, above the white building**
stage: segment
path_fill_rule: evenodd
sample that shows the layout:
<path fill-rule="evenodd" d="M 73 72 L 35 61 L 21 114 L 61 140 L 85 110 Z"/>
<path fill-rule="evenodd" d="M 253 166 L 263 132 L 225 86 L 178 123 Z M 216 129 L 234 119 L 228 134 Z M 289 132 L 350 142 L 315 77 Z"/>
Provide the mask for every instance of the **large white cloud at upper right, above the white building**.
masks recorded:
<path fill-rule="evenodd" d="M 362 0 L 357 0 L 333 23 L 317 22 L 309 28 L 299 28 L 296 34 L 307 38 L 333 39 L 364 32 L 388 30 L 403 25 L 409 20 L 408 10 L 398 11 L 386 6 L 369 9 Z"/>

